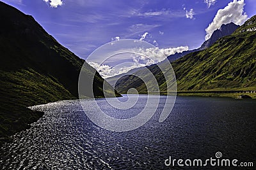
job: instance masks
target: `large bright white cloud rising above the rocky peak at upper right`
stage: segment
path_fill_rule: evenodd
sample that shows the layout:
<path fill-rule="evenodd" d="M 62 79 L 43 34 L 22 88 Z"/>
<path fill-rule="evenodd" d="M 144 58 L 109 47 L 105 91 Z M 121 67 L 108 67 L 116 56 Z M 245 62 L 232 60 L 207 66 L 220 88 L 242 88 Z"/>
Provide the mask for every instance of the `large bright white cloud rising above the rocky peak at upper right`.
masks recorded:
<path fill-rule="evenodd" d="M 246 13 L 244 13 L 244 5 L 244 0 L 234 0 L 228 3 L 225 8 L 218 10 L 211 24 L 205 29 L 205 40 L 211 38 L 212 33 L 220 29 L 222 24 L 228 24 L 230 22 L 234 22 L 237 25 L 244 24 L 248 18 Z"/>

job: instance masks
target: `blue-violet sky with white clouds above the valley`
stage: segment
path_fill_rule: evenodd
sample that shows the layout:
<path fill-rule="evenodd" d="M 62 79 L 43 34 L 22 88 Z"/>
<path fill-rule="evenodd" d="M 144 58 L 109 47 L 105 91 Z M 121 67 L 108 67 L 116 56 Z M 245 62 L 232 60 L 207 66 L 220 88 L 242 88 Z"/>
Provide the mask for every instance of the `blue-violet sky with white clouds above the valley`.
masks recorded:
<path fill-rule="evenodd" d="M 3 0 L 32 15 L 54 38 L 77 56 L 88 56 L 102 45 L 122 39 L 138 39 L 164 53 L 150 62 L 134 58 L 113 71 L 116 63 L 87 60 L 107 78 L 134 67 L 159 62 L 175 52 L 198 48 L 222 24 L 241 25 L 256 15 L 255 0 Z M 123 41 L 124 42 L 124 41 Z M 148 47 L 149 48 L 149 47 Z M 118 49 L 116 49 L 118 50 Z M 143 52 L 142 52 L 143 51 Z M 140 52 L 145 53 L 145 49 Z M 103 52 L 102 52 L 103 53 Z M 148 51 L 146 52 L 148 53 Z M 99 57 L 98 57 L 99 58 Z M 118 62 L 119 60 L 119 62 Z M 112 64 L 112 66 L 111 66 Z M 136 65 L 136 66 L 135 66 Z M 101 67 L 102 66 L 102 67 Z M 126 69 L 124 69 L 126 68 Z M 109 71 L 112 69 L 112 71 Z"/>

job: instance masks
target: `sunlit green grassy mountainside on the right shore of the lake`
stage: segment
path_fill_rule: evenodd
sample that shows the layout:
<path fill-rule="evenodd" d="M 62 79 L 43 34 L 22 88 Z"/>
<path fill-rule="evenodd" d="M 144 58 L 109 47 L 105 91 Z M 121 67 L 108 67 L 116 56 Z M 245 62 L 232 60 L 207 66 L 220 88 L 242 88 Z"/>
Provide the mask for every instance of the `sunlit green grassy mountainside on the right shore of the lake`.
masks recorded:
<path fill-rule="evenodd" d="M 189 53 L 173 61 L 178 91 L 255 90 L 255 54 L 256 15 L 230 36 L 218 39 L 211 47 Z M 166 92 L 166 81 L 172 80 L 164 80 L 163 73 L 156 64 L 147 68 L 156 77 L 161 92 Z M 148 76 L 143 75 L 143 69 L 134 74 Z M 131 87 L 136 88 L 140 93 L 147 92 L 145 84 L 134 76 L 120 78 L 115 88 L 124 94 Z"/>

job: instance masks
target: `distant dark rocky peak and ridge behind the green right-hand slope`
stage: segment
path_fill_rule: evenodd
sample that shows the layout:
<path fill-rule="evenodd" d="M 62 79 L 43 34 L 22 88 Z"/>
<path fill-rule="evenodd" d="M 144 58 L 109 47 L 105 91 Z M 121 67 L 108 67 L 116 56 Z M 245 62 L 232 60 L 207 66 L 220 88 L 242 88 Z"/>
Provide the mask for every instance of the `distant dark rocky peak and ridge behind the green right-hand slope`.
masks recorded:
<path fill-rule="evenodd" d="M 220 29 L 215 30 L 212 33 L 211 38 L 204 41 L 204 43 L 199 48 L 196 48 L 194 50 L 184 51 L 182 53 L 175 53 L 173 55 L 169 55 L 167 57 L 167 59 L 170 60 L 170 61 L 173 61 L 173 60 L 179 59 L 180 57 L 188 55 L 189 53 L 204 50 L 205 48 L 208 48 L 208 47 L 212 46 L 218 39 L 220 39 L 224 36 L 231 35 L 234 31 L 236 31 L 236 29 L 238 27 L 239 27 L 239 25 L 236 25 L 233 22 L 231 22 L 229 24 L 223 24 L 223 25 L 221 25 Z"/>

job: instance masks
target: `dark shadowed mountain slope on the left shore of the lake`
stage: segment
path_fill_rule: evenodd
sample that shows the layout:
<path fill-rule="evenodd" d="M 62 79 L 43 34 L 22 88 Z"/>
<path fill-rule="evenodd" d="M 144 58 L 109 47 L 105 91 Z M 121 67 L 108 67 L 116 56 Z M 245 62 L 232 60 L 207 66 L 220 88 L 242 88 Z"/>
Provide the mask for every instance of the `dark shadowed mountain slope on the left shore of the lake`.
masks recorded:
<path fill-rule="evenodd" d="M 47 34 L 33 17 L 0 2 L 0 23 L 0 138 L 42 117 L 43 113 L 26 107 L 77 99 L 83 64 L 94 95 L 104 96 L 99 73 Z"/>

